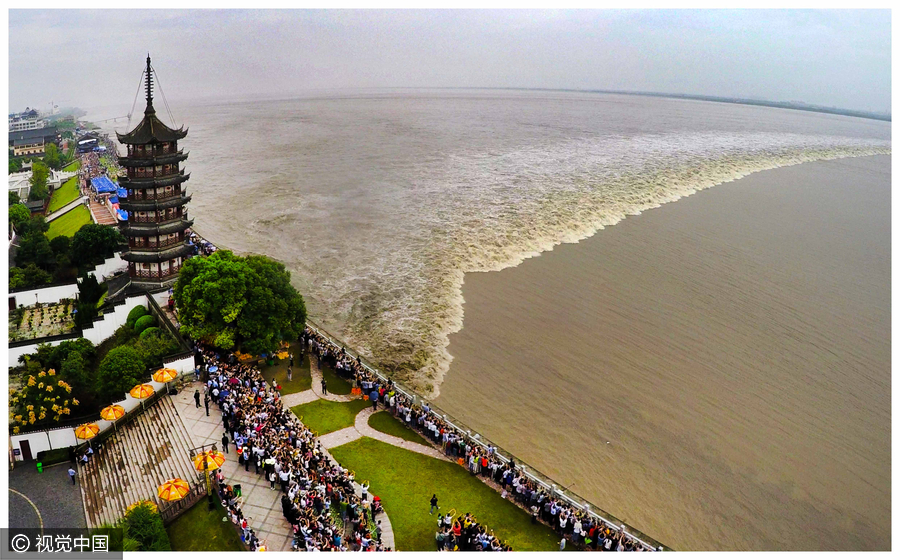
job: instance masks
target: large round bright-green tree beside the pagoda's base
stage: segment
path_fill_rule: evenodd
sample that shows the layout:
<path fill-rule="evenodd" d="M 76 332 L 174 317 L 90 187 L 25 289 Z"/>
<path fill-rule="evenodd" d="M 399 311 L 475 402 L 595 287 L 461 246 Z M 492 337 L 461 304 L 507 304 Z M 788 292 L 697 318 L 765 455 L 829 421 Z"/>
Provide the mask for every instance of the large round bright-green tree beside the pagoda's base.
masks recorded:
<path fill-rule="evenodd" d="M 290 272 L 268 257 L 218 251 L 190 259 L 174 292 L 181 332 L 225 350 L 273 352 L 306 324 L 306 305 Z"/>

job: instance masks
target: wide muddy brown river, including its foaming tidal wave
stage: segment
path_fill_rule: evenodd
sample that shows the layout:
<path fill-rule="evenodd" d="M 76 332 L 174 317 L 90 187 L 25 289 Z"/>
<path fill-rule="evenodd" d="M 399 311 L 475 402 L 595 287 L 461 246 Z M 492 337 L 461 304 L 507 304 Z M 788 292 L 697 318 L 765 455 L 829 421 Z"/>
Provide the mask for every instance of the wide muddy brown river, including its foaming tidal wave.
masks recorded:
<path fill-rule="evenodd" d="M 124 114 L 127 107 L 124 109 L 113 108 L 106 115 L 98 111 L 88 118 Z M 889 401 L 885 409 L 884 398 L 888 397 L 872 392 L 877 386 L 886 391 L 885 395 L 890 393 L 889 282 L 887 288 L 883 285 L 885 278 L 889 280 L 889 204 L 883 204 L 885 200 L 889 202 L 889 190 L 887 199 L 857 200 L 853 189 L 862 188 L 863 179 L 877 183 L 885 174 L 889 184 L 890 168 L 883 161 L 887 158 L 838 158 L 889 153 L 890 123 L 689 100 L 474 90 L 322 92 L 284 100 L 172 104 L 172 109 L 178 124 L 183 120 L 190 127 L 182 144 L 190 151 L 186 168 L 192 175 L 187 187 L 193 194 L 190 213 L 197 230 L 224 247 L 242 253 L 264 253 L 284 262 L 313 319 L 386 369 L 395 371 L 398 379 L 436 398 L 439 405 L 473 428 L 513 449 L 523 460 L 548 472 L 554 470 L 548 465 L 567 465 L 551 474 L 576 477 L 577 487 L 586 498 L 675 547 L 889 546 L 889 509 L 885 534 L 883 528 L 876 530 L 871 516 L 859 517 L 860 511 L 872 505 L 871 501 L 851 507 L 846 500 L 869 500 L 870 494 L 881 493 L 889 505 L 889 498 L 885 498 L 890 491 L 889 472 L 885 471 L 890 466 Z M 160 116 L 168 120 L 162 113 Z M 118 130 L 124 130 L 122 123 Z M 742 282 L 772 272 L 770 263 L 746 259 L 746 263 L 741 261 L 744 264 L 731 263 L 731 276 L 723 280 L 720 274 L 724 265 L 720 261 L 733 260 L 734 251 L 787 251 L 785 237 L 763 235 L 767 229 L 762 226 L 754 230 L 758 236 L 752 242 L 736 234 L 726 243 L 718 233 L 710 233 L 723 246 L 712 251 L 704 249 L 692 275 L 683 277 L 677 286 L 693 290 L 694 299 L 667 297 L 667 290 L 675 287 L 665 282 L 659 283 L 654 297 L 643 299 L 643 308 L 624 293 L 620 295 L 625 299 L 619 303 L 609 300 L 600 307 L 596 306 L 596 294 L 585 298 L 584 309 L 593 310 L 592 317 L 620 313 L 637 321 L 627 327 L 637 329 L 634 336 L 591 330 L 598 327 L 597 323 L 584 323 L 589 329 L 587 334 L 602 339 L 606 345 L 608 352 L 602 367 L 586 367 L 585 357 L 571 352 L 543 351 L 547 347 L 536 340 L 524 348 L 504 346 L 515 342 L 511 335 L 516 333 L 512 331 L 520 327 L 526 331 L 518 322 L 495 324 L 494 329 L 473 329 L 482 333 L 485 342 L 478 351 L 481 361 L 473 362 L 473 350 L 464 351 L 461 345 L 459 361 L 453 363 L 450 336 L 458 332 L 454 336 L 465 338 L 463 326 L 468 327 L 468 323 L 463 321 L 464 312 L 467 317 L 476 315 L 463 300 L 463 281 L 469 282 L 466 273 L 500 271 L 518 265 L 560 243 L 585 239 L 626 216 L 635 216 L 616 228 L 624 228 L 631 220 L 636 222 L 628 231 L 633 232 L 635 246 L 644 252 L 633 253 L 636 249 L 632 247 L 625 251 L 632 260 L 610 260 L 609 266 L 621 273 L 619 280 L 642 270 L 637 263 L 646 267 L 648 274 L 662 274 L 671 268 L 666 264 L 671 257 L 663 259 L 667 251 L 658 247 L 656 252 L 650 250 L 654 248 L 650 245 L 641 247 L 646 236 L 638 235 L 639 220 L 670 206 L 688 204 L 691 199 L 637 214 L 757 171 L 820 160 L 882 162 L 874 167 L 859 166 L 855 173 L 860 180 L 851 173 L 842 192 L 853 199 L 852 205 L 848 200 L 847 208 L 853 209 L 854 216 L 871 215 L 872 223 L 877 222 L 877 227 L 854 230 L 857 236 L 853 241 L 861 242 L 865 235 L 870 236 L 866 242 L 872 244 L 870 248 L 881 259 L 879 262 L 888 266 L 886 270 L 879 266 L 859 268 L 858 262 L 844 259 L 834 266 L 845 270 L 852 265 L 856 275 L 832 278 L 832 271 L 827 268 L 831 265 L 821 265 L 826 268 L 816 269 L 815 274 L 822 276 L 810 277 L 812 273 L 804 268 L 804 263 L 813 268 L 819 266 L 816 263 L 820 260 L 834 263 L 844 258 L 836 255 L 853 255 L 858 248 L 848 241 L 832 251 L 824 245 L 827 240 L 834 241 L 831 237 L 811 236 L 807 243 L 816 248 L 809 253 L 780 253 L 778 260 L 784 265 L 784 278 L 794 284 L 766 284 L 769 287 L 765 289 L 774 290 L 774 299 L 759 307 L 758 293 L 742 296 L 742 290 L 749 289 Z M 811 166 L 790 169 L 802 174 L 799 170 L 807 167 Z M 792 180 L 797 182 L 800 178 Z M 871 187 L 878 188 L 882 187 Z M 717 195 L 715 190 L 718 189 L 702 194 Z M 884 194 L 883 188 L 878 192 Z M 773 189 L 773 193 L 772 197 L 776 197 L 779 189 Z M 814 202 L 818 197 L 815 188 L 807 188 L 804 196 L 808 197 L 805 204 L 791 206 L 797 210 L 782 216 L 779 231 L 795 235 L 839 231 L 831 229 L 829 215 L 822 214 L 832 207 L 823 208 L 823 204 Z M 775 200 L 771 204 L 777 206 Z M 777 214 L 781 207 L 775 206 L 772 212 L 759 215 Z M 877 221 L 885 212 L 887 226 Z M 720 213 L 716 204 L 711 204 L 702 215 L 684 219 L 678 227 L 687 231 L 701 222 L 703 227 L 710 227 L 710 221 L 724 221 L 724 225 L 719 225 L 727 229 L 732 220 L 751 221 L 741 215 L 740 207 Z M 818 229 L 807 229 L 810 224 Z M 599 243 L 616 228 L 600 232 L 588 242 Z M 658 244 L 667 240 L 665 236 L 658 238 Z M 532 263 L 571 247 L 574 246 L 560 247 L 516 270 L 526 270 Z M 646 256 L 636 259 L 635 254 Z M 796 258 L 801 254 L 809 256 L 808 262 Z M 579 267 L 571 263 L 568 266 L 572 271 Z M 506 272 L 509 271 L 500 274 Z M 675 276 L 676 272 L 670 270 Z M 708 276 L 721 284 L 712 292 Z M 665 277 L 669 278 L 669 274 Z M 542 282 L 536 284 L 538 292 L 546 289 Z M 871 301 L 857 298 L 848 303 L 842 299 L 845 284 L 856 288 L 871 284 L 878 289 L 871 292 Z M 600 288 L 595 285 L 592 289 Z M 734 292 L 728 295 L 731 289 Z M 532 286 L 529 298 L 534 291 Z M 504 313 L 509 305 L 515 305 L 514 301 L 500 298 L 502 290 L 495 289 L 494 293 L 497 298 L 489 297 L 482 305 L 488 306 L 488 315 Z M 744 300 L 743 305 L 736 303 Z M 549 296 L 543 306 L 533 298 L 528 301 L 535 316 L 539 310 L 558 303 Z M 775 302 L 787 302 L 788 310 Z M 731 315 L 720 317 L 716 313 Z M 799 318 L 782 331 L 766 330 L 768 323 L 763 319 L 771 314 L 781 317 L 779 313 L 795 313 Z M 516 320 L 526 315 L 520 312 Z M 655 323 L 654 318 L 659 317 L 669 322 Z M 746 319 L 752 326 L 732 333 L 727 321 L 737 318 Z M 859 324 L 853 323 L 849 332 L 859 336 L 848 339 L 846 321 L 850 320 Z M 559 321 L 545 324 L 541 336 L 551 342 L 554 337 L 569 338 L 569 331 L 554 330 L 559 325 Z M 619 327 L 625 328 L 615 328 Z M 672 328 L 693 334 L 683 340 L 669 337 L 666 329 Z M 773 355 L 767 345 L 774 342 L 776 333 L 805 349 L 814 346 L 823 350 L 792 355 L 789 349 L 776 347 Z M 638 335 L 656 338 L 648 346 L 646 341 L 635 342 Z M 857 340 L 859 337 L 871 346 Z M 832 355 L 829 352 L 836 340 L 841 346 Z M 580 342 L 593 344 L 587 339 Z M 618 344 L 610 346 L 612 342 Z M 556 346 L 551 344 L 550 348 Z M 528 354 L 537 348 L 543 350 L 533 356 Z M 615 359 L 614 349 L 620 352 L 620 359 Z M 779 361 L 776 356 L 782 352 L 790 360 Z M 540 363 L 540 367 L 503 365 L 501 361 L 506 363 L 510 354 L 529 355 L 531 363 Z M 717 356 L 718 361 L 713 360 L 715 367 L 694 371 L 691 364 L 711 355 Z M 671 376 L 664 379 L 650 379 L 646 372 L 643 376 L 631 375 L 645 369 L 661 371 L 660 363 L 666 360 L 682 360 L 685 364 L 672 368 Z M 798 370 L 796 377 L 785 377 L 785 372 L 794 371 L 798 360 L 806 367 Z M 473 368 L 474 363 L 478 363 L 477 368 Z M 596 357 L 587 363 L 599 364 Z M 731 369 L 724 371 L 723 363 Z M 762 367 L 763 363 L 766 367 Z M 650 367 L 653 364 L 656 369 Z M 829 367 L 836 372 L 834 375 L 844 376 L 841 383 L 846 386 L 828 385 L 837 383 L 831 374 L 827 382 L 810 377 L 811 371 Z M 548 372 L 562 377 L 555 383 L 545 382 Z M 611 377 L 610 372 L 615 375 Z M 772 399 L 778 400 L 776 395 L 783 394 L 780 408 L 741 408 L 737 401 L 713 398 L 734 390 L 725 378 L 742 377 L 746 382 L 759 380 L 758 376 L 767 373 L 774 377 L 753 385 L 753 391 L 770 404 Z M 446 391 L 442 387 L 445 380 Z M 806 390 L 817 382 L 835 391 L 849 392 L 839 394 L 852 394 L 859 418 L 841 417 L 841 410 L 821 407 L 817 391 L 825 389 Z M 654 383 L 657 387 L 646 394 L 660 398 L 659 387 L 666 389 L 659 407 L 620 402 L 632 398 L 640 401 L 638 395 L 645 394 L 644 389 Z M 628 386 L 627 391 L 622 389 L 623 393 L 602 389 L 620 388 L 622 384 Z M 493 389 L 488 390 L 488 386 Z M 698 391 L 701 386 L 707 389 Z M 584 390 L 587 387 L 600 387 L 600 394 Z M 861 391 L 859 387 L 866 387 L 868 392 L 856 394 Z M 530 407 L 495 407 L 503 410 L 486 414 L 487 405 L 476 407 L 466 400 L 465 395 L 473 391 L 486 395 L 482 399 L 485 403 L 496 402 L 503 391 L 515 393 Z M 613 406 L 614 403 L 621 406 Z M 673 417 L 669 409 L 676 405 L 691 412 Z M 710 412 L 722 408 L 729 412 L 724 421 L 721 414 Z M 555 431 L 538 429 L 543 424 L 535 418 L 541 415 L 532 418 L 523 415 L 525 410 L 550 414 Z M 828 458 L 842 465 L 857 465 L 853 468 L 858 476 L 852 482 L 839 478 L 851 468 L 847 465 L 843 470 L 820 464 L 807 466 L 802 472 L 815 476 L 802 484 L 783 478 L 797 465 L 790 454 L 785 455 L 787 444 L 766 447 L 760 442 L 770 440 L 773 431 L 796 430 L 798 423 L 803 424 L 796 415 L 805 414 L 804 411 L 818 414 L 804 429 L 815 432 L 820 439 L 799 443 L 806 446 L 802 457 L 821 452 L 825 449 L 822 442 L 827 441 Z M 608 424 L 605 432 L 597 431 L 598 417 L 605 422 L 622 423 L 620 430 L 639 422 L 647 428 L 642 437 L 629 440 L 624 432 L 617 432 Z M 648 417 L 651 420 L 645 421 Z M 696 429 L 703 434 L 684 445 L 702 452 L 688 460 L 667 456 L 671 450 L 665 446 L 655 447 L 660 439 L 677 441 L 691 437 L 667 426 L 667 421 L 677 421 L 679 425 L 687 422 L 684 430 Z M 656 431 L 649 433 L 651 428 Z M 763 435 L 757 434 L 755 443 L 746 444 L 748 434 L 755 430 Z M 566 439 L 559 438 L 560 433 L 582 436 Z M 606 448 L 605 441 L 611 441 L 613 449 L 614 440 L 620 446 L 628 441 L 630 452 L 639 454 L 640 460 L 635 456 L 610 464 L 608 454 L 612 451 Z M 883 449 L 879 447 L 882 445 Z M 724 448 L 728 448 L 728 453 Z M 872 464 L 858 461 L 865 453 L 872 455 Z M 648 456 L 655 457 L 655 464 L 651 465 Z M 672 486 L 682 480 L 680 477 L 707 460 L 711 466 L 693 480 L 696 486 L 707 487 L 704 492 L 686 498 L 673 490 Z M 771 464 L 776 465 L 775 471 L 769 468 Z M 748 486 L 731 488 L 729 473 L 740 474 L 738 482 Z M 800 471 L 794 475 L 801 476 Z M 590 479 L 598 482 L 589 482 Z M 610 485 L 609 480 L 616 482 Z M 826 487 L 836 496 L 835 503 L 840 502 L 845 509 L 817 509 L 819 513 L 806 512 L 797 517 L 796 508 L 779 511 L 770 507 L 774 504 L 770 496 L 781 496 L 784 504 L 824 507 L 807 499 L 813 483 L 830 485 Z M 857 490 L 868 485 L 875 491 L 866 494 L 848 490 L 842 494 L 834 489 L 841 485 L 852 485 Z M 731 491 L 709 499 L 722 488 Z M 765 500 L 748 499 L 760 492 L 765 494 Z M 621 499 L 610 499 L 617 493 Z M 881 508 L 883 503 L 876 502 Z M 692 511 L 703 513 L 695 519 L 676 522 L 676 518 L 683 519 Z M 843 524 L 836 521 L 841 513 L 846 514 Z M 735 515 L 750 521 L 732 522 Z M 798 525 L 802 525 L 798 519 L 820 518 L 830 521 L 803 525 L 807 538 L 793 537 Z M 788 522 L 789 519 L 793 521 Z M 832 533 L 828 538 L 817 537 L 822 530 Z"/>

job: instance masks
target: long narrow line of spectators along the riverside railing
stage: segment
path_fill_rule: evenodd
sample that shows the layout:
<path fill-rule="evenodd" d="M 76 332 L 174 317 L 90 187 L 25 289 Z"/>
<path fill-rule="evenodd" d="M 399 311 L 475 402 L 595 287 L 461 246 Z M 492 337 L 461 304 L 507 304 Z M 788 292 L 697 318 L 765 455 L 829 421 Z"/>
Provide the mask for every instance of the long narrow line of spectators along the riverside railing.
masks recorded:
<path fill-rule="evenodd" d="M 516 467 L 514 460 L 507 462 L 500 459 L 493 446 L 461 433 L 434 413 L 427 403 L 419 405 L 412 402 L 397 390 L 393 381 L 383 381 L 364 367 L 358 357 L 350 356 L 344 348 L 333 344 L 309 327 L 303 333 L 301 342 L 320 363 L 329 365 L 338 375 L 359 387 L 362 394 L 372 400 L 373 407 L 377 408 L 380 404 L 410 429 L 431 440 L 435 446 L 440 446 L 445 454 L 465 466 L 470 473 L 483 477 L 500 490 L 503 497 L 529 511 L 533 523 L 540 521 L 552 527 L 561 537 L 561 548 L 571 544 L 587 550 L 653 550 L 649 545 L 626 534 L 622 528 L 610 526 L 584 509 L 574 507 L 567 500 L 554 495 L 550 489 L 528 478 Z M 475 525 L 477 524 L 472 526 Z M 454 532 L 452 528 L 450 532 Z M 458 546 L 455 534 L 451 541 Z M 467 542 L 476 542 L 484 547 L 483 539 L 476 538 Z M 488 547 L 492 546 L 490 539 L 487 542 Z"/>

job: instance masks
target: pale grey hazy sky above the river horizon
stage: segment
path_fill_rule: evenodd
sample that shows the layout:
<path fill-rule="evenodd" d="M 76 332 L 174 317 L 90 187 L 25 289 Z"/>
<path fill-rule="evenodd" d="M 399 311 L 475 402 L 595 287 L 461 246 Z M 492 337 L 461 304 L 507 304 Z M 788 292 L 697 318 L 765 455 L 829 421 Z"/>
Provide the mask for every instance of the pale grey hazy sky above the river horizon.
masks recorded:
<path fill-rule="evenodd" d="M 170 101 L 539 87 L 891 107 L 888 10 L 11 10 L 10 110 L 130 109 L 148 51 Z"/>

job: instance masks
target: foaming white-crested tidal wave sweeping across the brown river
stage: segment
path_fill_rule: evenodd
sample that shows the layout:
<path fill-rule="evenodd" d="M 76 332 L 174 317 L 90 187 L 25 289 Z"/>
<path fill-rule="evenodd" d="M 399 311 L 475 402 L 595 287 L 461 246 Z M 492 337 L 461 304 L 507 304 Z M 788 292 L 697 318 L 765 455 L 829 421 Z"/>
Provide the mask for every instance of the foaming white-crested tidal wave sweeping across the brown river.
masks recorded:
<path fill-rule="evenodd" d="M 364 289 L 357 282 L 338 296 L 343 302 L 323 301 L 348 310 L 348 343 L 434 398 L 453 359 L 449 335 L 463 326 L 465 273 L 516 266 L 750 173 L 890 152 L 890 142 L 879 140 L 699 133 L 457 154 L 416 185 L 410 200 L 398 201 L 419 207 L 410 224 L 418 235 L 383 257 L 393 273 L 368 279 Z"/>

